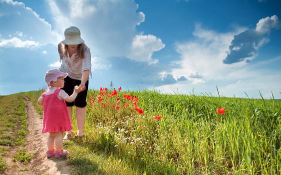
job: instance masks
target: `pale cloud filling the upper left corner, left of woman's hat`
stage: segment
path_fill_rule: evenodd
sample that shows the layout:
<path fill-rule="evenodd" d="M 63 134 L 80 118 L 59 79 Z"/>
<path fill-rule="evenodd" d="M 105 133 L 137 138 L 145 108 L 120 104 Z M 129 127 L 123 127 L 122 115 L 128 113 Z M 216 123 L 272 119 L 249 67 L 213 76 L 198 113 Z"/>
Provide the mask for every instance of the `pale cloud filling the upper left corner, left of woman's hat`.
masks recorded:
<path fill-rule="evenodd" d="M 0 11 L 0 23 L 4 24 L 0 27 L 2 44 L 8 43 L 9 47 L 15 44 L 14 47 L 19 45 L 21 47 L 57 42 L 57 32 L 52 31 L 51 25 L 24 3 L 3 0 L 0 1 Z M 19 44 L 14 41 L 18 41 Z"/>

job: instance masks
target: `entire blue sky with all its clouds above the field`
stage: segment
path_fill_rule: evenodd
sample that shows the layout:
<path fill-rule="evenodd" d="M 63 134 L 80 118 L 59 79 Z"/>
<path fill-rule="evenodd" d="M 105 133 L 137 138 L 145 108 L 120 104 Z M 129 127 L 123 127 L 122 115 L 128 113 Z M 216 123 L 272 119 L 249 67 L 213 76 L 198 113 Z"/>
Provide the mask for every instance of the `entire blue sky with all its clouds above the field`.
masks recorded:
<path fill-rule="evenodd" d="M 80 28 L 91 89 L 281 98 L 280 0 L 0 0 L 0 95 L 44 88 Z"/>

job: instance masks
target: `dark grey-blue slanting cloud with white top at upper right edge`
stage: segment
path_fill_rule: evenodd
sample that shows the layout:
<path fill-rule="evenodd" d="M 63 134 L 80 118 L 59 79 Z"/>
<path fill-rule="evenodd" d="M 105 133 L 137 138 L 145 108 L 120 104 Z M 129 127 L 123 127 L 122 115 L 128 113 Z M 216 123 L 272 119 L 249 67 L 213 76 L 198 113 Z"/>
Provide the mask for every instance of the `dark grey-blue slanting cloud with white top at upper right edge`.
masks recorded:
<path fill-rule="evenodd" d="M 234 36 L 229 46 L 229 52 L 223 60 L 225 64 L 246 61 L 249 62 L 257 56 L 258 49 L 269 42 L 268 35 L 272 29 L 279 29 L 281 21 L 277 15 L 259 20 L 256 28 L 248 29 Z"/>

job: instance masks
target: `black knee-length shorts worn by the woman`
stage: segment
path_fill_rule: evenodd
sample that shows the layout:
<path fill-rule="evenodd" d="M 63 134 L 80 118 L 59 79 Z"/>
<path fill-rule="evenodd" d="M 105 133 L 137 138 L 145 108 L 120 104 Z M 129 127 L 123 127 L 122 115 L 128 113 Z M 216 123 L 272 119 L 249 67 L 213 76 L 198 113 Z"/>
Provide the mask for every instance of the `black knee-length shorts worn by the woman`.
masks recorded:
<path fill-rule="evenodd" d="M 74 86 L 78 85 L 81 83 L 81 80 L 77 80 L 77 79 L 72 79 L 69 76 L 66 76 L 64 78 L 64 86 L 63 86 L 63 90 L 68 94 L 71 95 L 73 93 L 74 90 Z M 85 83 L 86 89 L 79 92 L 77 97 L 75 98 L 75 100 L 73 102 L 66 102 L 66 106 L 77 106 L 77 107 L 85 107 L 87 105 L 86 102 L 86 97 L 87 97 L 87 92 L 88 92 L 88 85 L 89 85 L 89 81 L 87 81 Z"/>

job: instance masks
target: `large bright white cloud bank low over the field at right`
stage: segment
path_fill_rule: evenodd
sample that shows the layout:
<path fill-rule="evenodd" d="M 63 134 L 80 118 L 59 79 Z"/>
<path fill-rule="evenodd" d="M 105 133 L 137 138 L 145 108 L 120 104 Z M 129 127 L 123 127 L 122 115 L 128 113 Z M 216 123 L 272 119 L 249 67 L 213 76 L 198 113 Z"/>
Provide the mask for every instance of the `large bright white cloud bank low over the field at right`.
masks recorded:
<path fill-rule="evenodd" d="M 244 28 L 229 33 L 217 33 L 197 25 L 194 31 L 197 38 L 176 43 L 182 59 L 178 62 L 180 67 L 173 68 L 171 72 L 174 77 L 184 75 L 188 81 L 154 88 L 165 93 L 172 93 L 177 89 L 178 93 L 211 93 L 218 96 L 218 87 L 221 96 L 247 97 L 247 93 L 250 98 L 260 98 L 261 91 L 264 98 L 272 98 L 272 92 L 278 98 L 281 81 L 277 79 L 281 79 L 281 71 L 266 67 L 280 64 L 280 56 L 256 64 L 223 63 L 234 35 L 241 30 Z"/>

